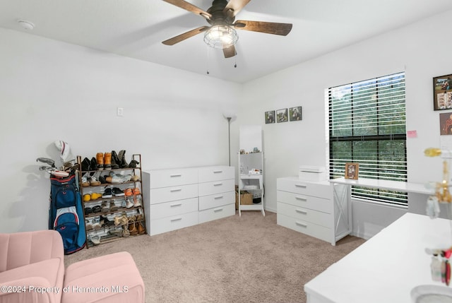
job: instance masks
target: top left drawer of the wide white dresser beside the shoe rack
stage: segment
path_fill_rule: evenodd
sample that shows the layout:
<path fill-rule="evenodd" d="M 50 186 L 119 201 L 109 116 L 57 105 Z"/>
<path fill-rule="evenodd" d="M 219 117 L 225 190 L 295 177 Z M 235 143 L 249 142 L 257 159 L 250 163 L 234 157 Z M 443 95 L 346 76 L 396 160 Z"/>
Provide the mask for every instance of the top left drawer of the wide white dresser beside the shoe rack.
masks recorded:
<path fill-rule="evenodd" d="M 198 170 L 194 168 L 151 170 L 149 174 L 151 189 L 198 183 Z"/>

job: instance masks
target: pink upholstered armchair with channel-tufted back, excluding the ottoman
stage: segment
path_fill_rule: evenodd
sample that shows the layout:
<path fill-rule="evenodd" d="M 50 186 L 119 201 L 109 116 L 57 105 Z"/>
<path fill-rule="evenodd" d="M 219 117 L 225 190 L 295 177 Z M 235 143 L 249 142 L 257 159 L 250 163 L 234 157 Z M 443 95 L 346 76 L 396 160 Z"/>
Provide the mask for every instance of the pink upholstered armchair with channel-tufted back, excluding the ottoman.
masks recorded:
<path fill-rule="evenodd" d="M 64 249 L 58 232 L 0 234 L 1 303 L 61 302 L 63 283 Z"/>

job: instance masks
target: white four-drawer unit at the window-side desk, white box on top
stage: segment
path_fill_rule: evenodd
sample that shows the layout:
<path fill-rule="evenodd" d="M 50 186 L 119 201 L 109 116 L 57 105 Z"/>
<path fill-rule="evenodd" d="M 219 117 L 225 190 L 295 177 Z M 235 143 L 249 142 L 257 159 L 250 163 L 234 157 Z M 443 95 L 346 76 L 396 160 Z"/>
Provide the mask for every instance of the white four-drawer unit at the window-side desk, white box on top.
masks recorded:
<path fill-rule="evenodd" d="M 284 177 L 277 179 L 276 187 L 278 225 L 332 245 L 350 233 L 348 212 L 335 207 L 330 182 Z"/>

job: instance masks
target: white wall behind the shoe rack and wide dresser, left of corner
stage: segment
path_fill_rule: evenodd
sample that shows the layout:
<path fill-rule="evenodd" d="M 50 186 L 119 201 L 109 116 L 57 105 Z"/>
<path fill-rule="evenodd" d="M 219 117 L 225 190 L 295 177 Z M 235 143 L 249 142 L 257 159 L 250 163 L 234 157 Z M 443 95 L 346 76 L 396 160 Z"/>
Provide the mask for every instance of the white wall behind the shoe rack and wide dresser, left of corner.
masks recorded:
<path fill-rule="evenodd" d="M 47 228 L 36 159 L 58 159 L 58 139 L 88 158 L 141 153 L 145 169 L 227 165 L 222 113 L 242 85 L 11 30 L 0 40 L 0 232 Z"/>

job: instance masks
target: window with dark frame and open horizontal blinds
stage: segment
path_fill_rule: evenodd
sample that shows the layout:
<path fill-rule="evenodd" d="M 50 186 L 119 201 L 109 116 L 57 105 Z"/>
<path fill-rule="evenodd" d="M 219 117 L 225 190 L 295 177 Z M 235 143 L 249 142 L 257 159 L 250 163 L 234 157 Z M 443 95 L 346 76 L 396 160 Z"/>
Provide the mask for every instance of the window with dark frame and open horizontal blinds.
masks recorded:
<path fill-rule="evenodd" d="M 405 73 L 328 89 L 330 177 L 407 181 Z M 353 198 L 408 207 L 406 192 L 352 186 Z"/>

